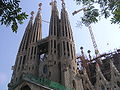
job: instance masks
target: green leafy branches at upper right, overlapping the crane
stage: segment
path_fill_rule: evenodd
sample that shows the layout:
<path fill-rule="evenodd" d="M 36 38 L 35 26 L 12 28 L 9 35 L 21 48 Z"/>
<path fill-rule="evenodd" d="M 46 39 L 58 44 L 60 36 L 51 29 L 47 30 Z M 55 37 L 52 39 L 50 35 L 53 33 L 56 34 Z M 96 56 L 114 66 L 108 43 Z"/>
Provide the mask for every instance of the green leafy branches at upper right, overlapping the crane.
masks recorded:
<path fill-rule="evenodd" d="M 120 0 L 75 0 L 86 7 L 82 23 L 85 25 L 98 22 L 101 16 L 111 17 L 111 23 L 120 25 Z"/>

